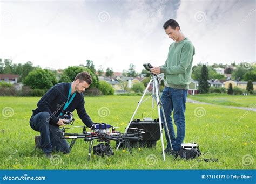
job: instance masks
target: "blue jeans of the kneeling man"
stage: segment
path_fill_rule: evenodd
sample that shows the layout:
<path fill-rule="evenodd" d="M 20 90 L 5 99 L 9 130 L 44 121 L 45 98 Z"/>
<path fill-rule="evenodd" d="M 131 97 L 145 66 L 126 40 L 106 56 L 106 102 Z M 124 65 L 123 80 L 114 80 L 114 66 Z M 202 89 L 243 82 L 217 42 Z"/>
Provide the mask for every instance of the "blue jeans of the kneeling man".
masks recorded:
<path fill-rule="evenodd" d="M 61 130 L 58 126 L 49 124 L 50 114 L 39 112 L 30 118 L 30 126 L 33 130 L 40 132 L 40 147 L 44 153 L 60 151 L 69 153 L 69 144 L 66 139 L 61 139 Z"/>

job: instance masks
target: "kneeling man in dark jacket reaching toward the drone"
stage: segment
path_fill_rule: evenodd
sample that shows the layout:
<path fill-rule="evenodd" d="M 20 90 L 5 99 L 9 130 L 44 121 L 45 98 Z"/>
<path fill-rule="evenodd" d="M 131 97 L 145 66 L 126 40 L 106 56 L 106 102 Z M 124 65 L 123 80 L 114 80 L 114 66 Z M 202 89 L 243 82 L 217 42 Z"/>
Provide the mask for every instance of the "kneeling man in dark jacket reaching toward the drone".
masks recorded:
<path fill-rule="evenodd" d="M 91 127 L 93 122 L 84 108 L 83 91 L 92 83 L 91 75 L 87 72 L 77 74 L 71 83 L 58 83 L 53 86 L 37 103 L 37 109 L 32 110 L 30 126 L 40 132 L 35 137 L 37 148 L 42 148 L 46 157 L 51 158 L 52 151 L 69 153 L 69 144 L 66 139 L 61 139 L 59 126 L 65 126 L 65 120 L 59 118 L 65 112 L 77 110 L 83 123 Z"/>

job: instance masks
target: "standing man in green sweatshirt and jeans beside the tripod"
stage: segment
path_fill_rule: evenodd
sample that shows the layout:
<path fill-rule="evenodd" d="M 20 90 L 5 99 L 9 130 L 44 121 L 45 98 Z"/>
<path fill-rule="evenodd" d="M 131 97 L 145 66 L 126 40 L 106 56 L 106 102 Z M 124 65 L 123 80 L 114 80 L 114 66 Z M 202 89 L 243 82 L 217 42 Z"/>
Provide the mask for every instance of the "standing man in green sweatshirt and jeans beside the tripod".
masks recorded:
<path fill-rule="evenodd" d="M 166 153 L 176 154 L 180 149 L 185 137 L 185 110 L 188 85 L 191 80 L 191 69 L 193 62 L 194 46 L 191 41 L 180 31 L 180 26 L 176 20 L 170 19 L 164 23 L 165 33 L 174 42 L 169 47 L 168 57 L 165 64 L 160 67 L 153 67 L 153 74 L 164 73 L 167 84 L 164 88 L 161 100 L 163 102 L 165 117 L 169 128 L 171 145 L 167 137 L 165 128 L 165 137 L 167 139 Z M 177 126 L 175 136 L 172 124 L 172 111 L 174 123 Z M 163 120 L 163 114 L 161 114 Z"/>

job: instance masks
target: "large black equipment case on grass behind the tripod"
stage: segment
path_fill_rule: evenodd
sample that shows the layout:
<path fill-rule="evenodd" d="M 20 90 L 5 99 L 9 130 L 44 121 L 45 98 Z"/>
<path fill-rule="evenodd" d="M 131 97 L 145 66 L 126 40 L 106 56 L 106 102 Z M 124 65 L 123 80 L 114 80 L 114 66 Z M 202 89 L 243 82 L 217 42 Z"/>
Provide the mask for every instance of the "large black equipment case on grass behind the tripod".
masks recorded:
<path fill-rule="evenodd" d="M 130 128 L 143 129 L 142 140 L 130 140 L 131 147 L 156 147 L 157 141 L 160 139 L 159 119 L 144 118 L 143 120 L 134 119 Z M 134 129 L 128 129 L 128 133 L 133 133 Z M 123 144 L 120 145 L 124 147 Z"/>

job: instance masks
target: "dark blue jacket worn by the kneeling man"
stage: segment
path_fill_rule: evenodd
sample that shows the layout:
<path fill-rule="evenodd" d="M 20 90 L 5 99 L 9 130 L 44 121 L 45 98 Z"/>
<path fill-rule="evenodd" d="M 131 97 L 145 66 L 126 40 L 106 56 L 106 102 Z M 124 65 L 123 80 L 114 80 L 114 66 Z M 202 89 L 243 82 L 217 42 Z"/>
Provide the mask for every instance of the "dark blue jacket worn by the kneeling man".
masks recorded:
<path fill-rule="evenodd" d="M 47 91 L 47 93 L 37 103 L 37 108 L 32 110 L 32 116 L 35 116 L 39 112 L 49 112 L 51 115 L 50 124 L 57 125 L 59 121 L 58 116 L 68 100 L 70 85 L 71 83 L 58 83 L 49 89 L 49 91 Z M 83 123 L 86 126 L 91 127 L 93 122 L 85 111 L 83 93 L 76 93 L 76 96 L 65 111 L 73 112 L 75 109 Z"/>

